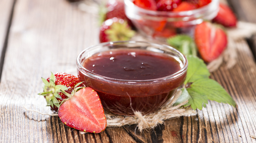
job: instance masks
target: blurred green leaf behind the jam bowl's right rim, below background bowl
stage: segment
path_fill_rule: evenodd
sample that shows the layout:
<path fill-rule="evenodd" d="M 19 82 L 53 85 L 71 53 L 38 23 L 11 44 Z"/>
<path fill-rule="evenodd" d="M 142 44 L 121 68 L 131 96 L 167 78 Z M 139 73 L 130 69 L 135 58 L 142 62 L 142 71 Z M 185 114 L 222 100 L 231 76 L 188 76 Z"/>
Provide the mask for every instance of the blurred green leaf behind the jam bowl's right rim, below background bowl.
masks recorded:
<path fill-rule="evenodd" d="M 167 43 L 179 50 L 183 55 L 197 56 L 197 47 L 194 40 L 188 35 L 177 35 L 167 39 Z"/>

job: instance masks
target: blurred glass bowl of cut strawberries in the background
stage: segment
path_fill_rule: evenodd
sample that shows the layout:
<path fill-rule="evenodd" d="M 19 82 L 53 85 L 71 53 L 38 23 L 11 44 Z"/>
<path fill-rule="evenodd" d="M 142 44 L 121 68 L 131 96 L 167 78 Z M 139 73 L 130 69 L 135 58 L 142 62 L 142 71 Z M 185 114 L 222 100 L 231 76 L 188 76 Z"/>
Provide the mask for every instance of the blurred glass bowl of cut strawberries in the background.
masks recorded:
<path fill-rule="evenodd" d="M 193 37 L 194 27 L 203 20 L 212 20 L 219 11 L 219 0 L 189 11 L 153 11 L 140 8 L 133 0 L 124 0 L 125 14 L 145 37 L 165 40 L 176 34 Z"/>

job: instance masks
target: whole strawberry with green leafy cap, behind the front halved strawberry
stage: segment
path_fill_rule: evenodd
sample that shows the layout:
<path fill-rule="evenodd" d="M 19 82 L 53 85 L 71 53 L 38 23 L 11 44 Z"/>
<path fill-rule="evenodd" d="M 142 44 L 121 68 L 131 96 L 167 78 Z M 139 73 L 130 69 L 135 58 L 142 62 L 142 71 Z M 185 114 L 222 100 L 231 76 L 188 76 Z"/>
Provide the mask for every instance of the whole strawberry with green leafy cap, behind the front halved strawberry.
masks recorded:
<path fill-rule="evenodd" d="M 64 72 L 52 73 L 50 77 L 42 80 L 45 84 L 44 91 L 38 94 L 45 97 L 47 105 L 54 111 L 58 111 L 59 103 L 67 98 L 60 90 L 71 94 L 75 85 L 81 82 L 76 76 Z"/>

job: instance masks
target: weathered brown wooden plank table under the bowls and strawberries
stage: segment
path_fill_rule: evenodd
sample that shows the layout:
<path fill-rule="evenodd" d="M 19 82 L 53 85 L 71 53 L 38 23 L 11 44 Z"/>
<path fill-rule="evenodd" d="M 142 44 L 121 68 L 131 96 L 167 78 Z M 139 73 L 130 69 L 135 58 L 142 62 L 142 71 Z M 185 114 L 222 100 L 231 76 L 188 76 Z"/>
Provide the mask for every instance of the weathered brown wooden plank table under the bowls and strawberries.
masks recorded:
<path fill-rule="evenodd" d="M 256 23 L 255 0 L 228 0 L 240 21 Z M 41 77 L 76 75 L 76 56 L 98 43 L 97 16 L 66 0 L 0 0 L 0 142 L 256 142 L 256 39 L 235 42 L 237 64 L 211 73 L 237 103 L 209 102 L 194 116 L 143 132 L 136 125 L 79 134 L 51 114 Z M 252 51 L 250 50 L 252 49 Z"/>

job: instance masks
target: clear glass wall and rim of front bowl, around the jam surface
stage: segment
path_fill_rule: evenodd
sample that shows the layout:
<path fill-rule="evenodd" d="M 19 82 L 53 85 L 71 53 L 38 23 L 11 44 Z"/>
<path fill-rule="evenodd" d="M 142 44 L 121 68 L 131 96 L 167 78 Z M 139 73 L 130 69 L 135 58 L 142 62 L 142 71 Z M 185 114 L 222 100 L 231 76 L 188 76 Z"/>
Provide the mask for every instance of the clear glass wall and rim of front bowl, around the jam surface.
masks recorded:
<path fill-rule="evenodd" d="M 113 54 L 116 51 L 122 53 L 127 50 L 130 51 L 129 54 L 133 53 L 133 56 L 139 56 L 139 52 L 148 52 L 152 54 L 150 56 L 172 57 L 175 59 L 175 64 L 179 66 L 179 69 L 164 77 L 137 80 L 103 76 L 84 67 L 87 66 L 85 64 L 90 66 L 89 63 L 84 62 L 92 56 L 100 57 L 104 53 Z M 109 60 L 113 60 L 113 56 L 110 55 Z M 104 110 L 129 116 L 134 115 L 134 111 L 140 111 L 143 115 L 152 113 L 164 105 L 185 81 L 188 66 L 185 56 L 176 49 L 163 44 L 143 41 L 105 42 L 88 47 L 77 56 L 76 64 L 78 78 L 84 81 L 85 86 L 93 88 L 98 93 Z M 114 66 L 113 69 L 117 71 L 118 67 Z M 124 72 L 123 75 L 126 75 L 126 71 Z"/>

